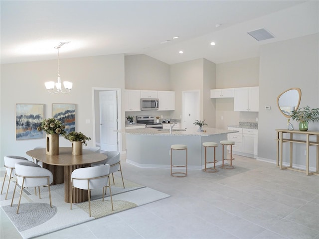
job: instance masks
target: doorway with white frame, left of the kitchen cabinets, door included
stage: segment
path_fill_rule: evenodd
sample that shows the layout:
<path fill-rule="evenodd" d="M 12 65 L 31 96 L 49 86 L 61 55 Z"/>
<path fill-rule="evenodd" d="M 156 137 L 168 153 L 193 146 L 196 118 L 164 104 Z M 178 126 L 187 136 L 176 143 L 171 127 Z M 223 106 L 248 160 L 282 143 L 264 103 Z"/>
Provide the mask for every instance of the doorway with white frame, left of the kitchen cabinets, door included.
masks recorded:
<path fill-rule="evenodd" d="M 101 151 L 121 151 L 121 90 L 92 88 L 93 96 L 93 143 Z"/>

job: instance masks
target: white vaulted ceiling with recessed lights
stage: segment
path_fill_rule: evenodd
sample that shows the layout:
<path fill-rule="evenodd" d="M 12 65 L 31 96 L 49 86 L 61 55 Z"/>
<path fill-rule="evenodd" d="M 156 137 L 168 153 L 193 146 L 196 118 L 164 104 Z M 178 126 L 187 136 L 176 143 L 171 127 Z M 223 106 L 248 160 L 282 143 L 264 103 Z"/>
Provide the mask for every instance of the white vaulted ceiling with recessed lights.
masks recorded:
<path fill-rule="evenodd" d="M 146 54 L 167 64 L 259 56 L 262 44 L 319 32 L 318 0 L 1 0 L 1 64 Z M 275 37 L 257 41 L 247 32 Z M 178 36 L 177 39 L 173 37 Z M 211 42 L 215 45 L 210 45 Z M 180 54 L 179 51 L 183 51 Z"/>

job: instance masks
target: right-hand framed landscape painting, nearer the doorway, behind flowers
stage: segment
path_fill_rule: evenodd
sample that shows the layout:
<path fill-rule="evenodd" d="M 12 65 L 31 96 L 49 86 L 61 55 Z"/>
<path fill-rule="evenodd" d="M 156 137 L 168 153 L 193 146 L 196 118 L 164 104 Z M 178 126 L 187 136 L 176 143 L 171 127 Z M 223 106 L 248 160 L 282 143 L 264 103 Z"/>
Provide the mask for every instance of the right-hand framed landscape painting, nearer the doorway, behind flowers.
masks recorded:
<path fill-rule="evenodd" d="M 68 133 L 75 131 L 75 104 L 52 104 L 52 118 L 60 120 Z"/>

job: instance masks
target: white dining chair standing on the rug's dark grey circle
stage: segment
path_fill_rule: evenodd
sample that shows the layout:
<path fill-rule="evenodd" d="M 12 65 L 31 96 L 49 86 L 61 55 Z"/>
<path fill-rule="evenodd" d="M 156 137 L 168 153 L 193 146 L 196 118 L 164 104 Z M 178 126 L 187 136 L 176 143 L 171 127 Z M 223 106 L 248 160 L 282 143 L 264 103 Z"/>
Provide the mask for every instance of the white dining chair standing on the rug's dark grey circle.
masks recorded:
<path fill-rule="evenodd" d="M 17 214 L 19 212 L 23 189 L 27 187 L 38 187 L 39 198 L 41 198 L 40 186 L 47 186 L 49 191 L 50 207 L 52 208 L 50 184 L 53 182 L 53 175 L 49 170 L 41 168 L 39 165 L 33 162 L 19 162 L 15 163 L 15 176 L 16 181 L 11 200 L 11 207 L 13 204 L 16 185 L 18 184 L 21 187 L 21 192 L 16 209 Z"/>

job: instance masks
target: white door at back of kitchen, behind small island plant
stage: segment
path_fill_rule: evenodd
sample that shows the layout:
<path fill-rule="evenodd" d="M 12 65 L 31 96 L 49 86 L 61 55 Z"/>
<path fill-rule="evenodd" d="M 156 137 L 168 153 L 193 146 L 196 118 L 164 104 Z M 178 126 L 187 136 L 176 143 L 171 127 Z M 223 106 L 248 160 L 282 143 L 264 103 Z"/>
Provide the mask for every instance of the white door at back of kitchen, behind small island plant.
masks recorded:
<path fill-rule="evenodd" d="M 199 91 L 182 92 L 181 128 L 194 128 L 195 119 L 199 120 Z"/>

